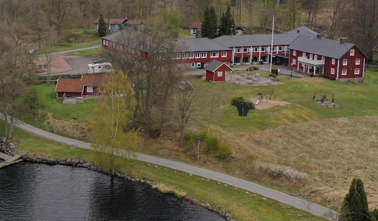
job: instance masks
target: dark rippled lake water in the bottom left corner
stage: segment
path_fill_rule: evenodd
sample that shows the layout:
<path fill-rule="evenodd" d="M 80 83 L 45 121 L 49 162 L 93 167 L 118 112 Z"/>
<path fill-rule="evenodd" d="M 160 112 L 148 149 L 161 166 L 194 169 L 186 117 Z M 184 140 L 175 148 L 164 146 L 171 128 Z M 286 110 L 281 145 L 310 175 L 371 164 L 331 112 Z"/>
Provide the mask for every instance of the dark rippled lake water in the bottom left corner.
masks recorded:
<path fill-rule="evenodd" d="M 225 220 L 147 184 L 68 166 L 0 169 L 0 220 Z"/>

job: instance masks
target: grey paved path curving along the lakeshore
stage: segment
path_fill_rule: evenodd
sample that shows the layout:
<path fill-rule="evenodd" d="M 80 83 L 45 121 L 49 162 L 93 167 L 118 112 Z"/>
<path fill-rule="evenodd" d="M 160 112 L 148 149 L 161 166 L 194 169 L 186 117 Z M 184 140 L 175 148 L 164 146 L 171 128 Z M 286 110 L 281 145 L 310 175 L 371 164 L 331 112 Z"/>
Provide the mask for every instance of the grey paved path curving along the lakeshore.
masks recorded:
<path fill-rule="evenodd" d="M 3 116 L 1 116 L 2 119 Z M 87 142 L 77 141 L 75 139 L 66 138 L 64 136 L 60 136 L 54 133 L 50 133 L 45 130 L 41 130 L 37 127 L 34 127 L 32 125 L 26 124 L 22 121 L 16 121 L 15 126 L 22 128 L 23 130 L 26 130 L 30 133 L 37 134 L 39 136 L 45 137 L 47 139 L 51 139 L 57 142 L 69 144 L 69 145 L 75 145 L 77 147 L 82 147 L 85 149 L 91 149 L 91 144 Z M 250 192 L 254 192 L 257 194 L 260 194 L 262 196 L 274 199 L 276 201 L 283 202 L 285 204 L 288 204 L 290 206 L 296 207 L 298 209 L 302 209 L 307 211 L 307 208 L 305 207 L 305 200 L 298 198 L 296 196 L 289 195 L 287 193 L 280 192 L 278 190 L 274 190 L 259 184 L 256 184 L 254 182 L 246 181 L 240 178 L 236 178 L 234 176 L 229 176 L 223 173 L 215 172 L 212 170 L 208 170 L 201 167 L 196 167 L 190 164 L 185 164 L 178 161 L 173 161 L 161 157 L 146 155 L 143 153 L 138 153 L 137 159 L 139 161 L 148 162 L 150 164 L 157 164 L 164 167 L 174 168 L 175 170 L 181 170 L 183 172 L 191 173 L 194 175 L 202 176 L 204 178 L 213 179 L 218 182 L 222 182 L 228 185 L 232 185 L 234 187 L 238 187 L 241 189 L 248 190 Z M 330 211 L 327 207 L 320 206 L 318 204 L 312 203 L 310 205 L 310 213 L 316 215 L 316 216 L 323 216 L 324 213 Z"/>

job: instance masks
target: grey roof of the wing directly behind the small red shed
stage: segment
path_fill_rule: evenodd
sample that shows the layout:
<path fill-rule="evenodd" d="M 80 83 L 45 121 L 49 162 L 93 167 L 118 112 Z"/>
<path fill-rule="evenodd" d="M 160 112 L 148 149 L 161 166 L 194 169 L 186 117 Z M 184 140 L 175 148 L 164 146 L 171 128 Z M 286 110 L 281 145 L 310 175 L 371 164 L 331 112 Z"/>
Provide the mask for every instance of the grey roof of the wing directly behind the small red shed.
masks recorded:
<path fill-rule="evenodd" d="M 224 45 L 214 42 L 208 38 L 195 38 L 195 39 L 177 39 L 177 50 L 186 52 L 196 51 L 229 51 Z"/>

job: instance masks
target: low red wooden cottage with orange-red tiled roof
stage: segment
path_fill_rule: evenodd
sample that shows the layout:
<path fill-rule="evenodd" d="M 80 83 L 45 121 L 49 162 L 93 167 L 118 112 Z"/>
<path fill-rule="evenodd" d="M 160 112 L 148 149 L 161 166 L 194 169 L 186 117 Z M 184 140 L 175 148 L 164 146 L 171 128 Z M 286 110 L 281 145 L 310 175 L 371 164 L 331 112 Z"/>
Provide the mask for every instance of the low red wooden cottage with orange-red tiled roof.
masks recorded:
<path fill-rule="evenodd" d="M 63 98 L 64 94 L 73 97 L 99 96 L 105 92 L 104 76 L 84 74 L 79 79 L 59 78 L 56 83 L 56 97 Z"/>

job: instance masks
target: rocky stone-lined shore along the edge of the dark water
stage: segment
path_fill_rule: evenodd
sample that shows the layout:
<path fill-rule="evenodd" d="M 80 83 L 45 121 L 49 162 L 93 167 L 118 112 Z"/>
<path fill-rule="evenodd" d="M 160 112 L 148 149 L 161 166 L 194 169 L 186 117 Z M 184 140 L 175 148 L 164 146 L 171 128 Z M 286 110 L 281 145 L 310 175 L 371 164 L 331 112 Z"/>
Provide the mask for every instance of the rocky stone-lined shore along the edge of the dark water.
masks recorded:
<path fill-rule="evenodd" d="M 99 173 L 105 173 L 111 176 L 117 176 L 119 178 L 127 179 L 133 182 L 140 182 L 142 184 L 150 185 L 152 189 L 157 189 L 158 184 L 156 182 L 149 181 L 145 177 L 140 177 L 138 175 L 131 175 L 127 173 L 121 173 L 119 170 L 109 170 L 104 167 L 98 167 L 91 161 L 85 161 L 84 159 L 75 159 L 75 158 L 55 158 L 51 156 L 41 156 L 41 155 L 31 155 L 29 153 L 22 153 L 15 150 L 15 145 L 11 142 L 7 142 L 5 138 L 0 138 L 0 151 L 6 152 L 8 155 L 20 155 L 22 156 L 21 159 L 24 161 L 37 163 L 37 164 L 48 164 L 48 165 L 66 165 L 71 167 L 82 167 L 88 168 L 88 170 L 97 171 Z M 158 167 L 158 165 L 155 165 Z M 158 190 L 158 189 L 157 189 Z M 228 212 L 223 211 L 218 206 L 211 206 L 210 204 L 198 204 L 198 199 L 192 197 L 185 197 L 185 199 L 196 206 L 201 206 L 209 211 L 218 213 L 226 221 L 238 221 L 237 219 L 232 219 L 231 214 Z"/>

